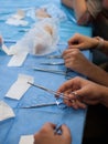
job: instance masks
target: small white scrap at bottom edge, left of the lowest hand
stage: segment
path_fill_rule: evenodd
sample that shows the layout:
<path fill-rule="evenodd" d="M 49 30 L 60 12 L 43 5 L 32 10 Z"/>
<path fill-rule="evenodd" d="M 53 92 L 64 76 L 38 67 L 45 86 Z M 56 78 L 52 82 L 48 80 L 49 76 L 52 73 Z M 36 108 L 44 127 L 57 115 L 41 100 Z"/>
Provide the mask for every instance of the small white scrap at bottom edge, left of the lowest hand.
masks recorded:
<path fill-rule="evenodd" d="M 19 144 L 33 144 L 34 138 L 33 135 L 22 135 Z"/>

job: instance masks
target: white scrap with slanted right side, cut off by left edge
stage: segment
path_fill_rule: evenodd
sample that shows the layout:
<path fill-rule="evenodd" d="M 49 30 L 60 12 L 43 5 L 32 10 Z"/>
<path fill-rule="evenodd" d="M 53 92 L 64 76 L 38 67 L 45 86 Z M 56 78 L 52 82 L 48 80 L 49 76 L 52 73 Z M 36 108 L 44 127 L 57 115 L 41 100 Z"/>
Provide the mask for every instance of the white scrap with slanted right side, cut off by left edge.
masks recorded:
<path fill-rule="evenodd" d="M 3 101 L 0 101 L 0 121 L 14 117 L 13 110 Z"/>

